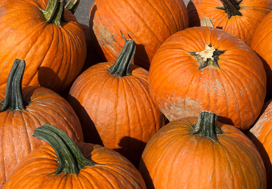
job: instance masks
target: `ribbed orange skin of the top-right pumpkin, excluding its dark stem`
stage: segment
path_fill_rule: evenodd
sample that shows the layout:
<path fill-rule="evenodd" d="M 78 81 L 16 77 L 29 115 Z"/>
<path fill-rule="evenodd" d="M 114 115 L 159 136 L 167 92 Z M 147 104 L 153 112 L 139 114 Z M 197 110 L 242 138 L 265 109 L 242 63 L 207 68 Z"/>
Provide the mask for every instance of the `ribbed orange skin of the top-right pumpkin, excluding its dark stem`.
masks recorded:
<path fill-rule="evenodd" d="M 220 0 L 191 0 L 187 6 L 189 27 L 200 26 L 201 19 L 209 17 L 214 27 L 225 30 L 250 45 L 257 26 L 272 10 L 272 1 L 242 0 L 239 10 L 242 16 L 236 15 L 230 19 L 224 10 L 216 8 L 220 6 L 223 6 Z"/>

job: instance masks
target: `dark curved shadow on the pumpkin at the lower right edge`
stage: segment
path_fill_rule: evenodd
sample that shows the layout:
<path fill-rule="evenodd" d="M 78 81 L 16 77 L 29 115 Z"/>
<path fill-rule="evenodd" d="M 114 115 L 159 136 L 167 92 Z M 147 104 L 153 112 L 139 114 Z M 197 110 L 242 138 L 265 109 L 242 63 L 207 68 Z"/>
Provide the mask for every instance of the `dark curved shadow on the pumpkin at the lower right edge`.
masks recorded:
<path fill-rule="evenodd" d="M 250 131 L 248 131 L 248 133 L 246 133 L 246 135 L 248 136 L 249 139 L 254 141 L 255 146 L 257 147 L 258 151 L 261 154 L 261 157 L 264 161 L 266 175 L 270 176 L 270 177 L 267 177 L 267 188 L 272 188 L 272 179 L 271 179 L 272 164 L 270 162 L 269 155 L 267 154 L 267 151 L 264 149 L 263 144 L 256 138 L 256 136 L 254 136 Z"/>

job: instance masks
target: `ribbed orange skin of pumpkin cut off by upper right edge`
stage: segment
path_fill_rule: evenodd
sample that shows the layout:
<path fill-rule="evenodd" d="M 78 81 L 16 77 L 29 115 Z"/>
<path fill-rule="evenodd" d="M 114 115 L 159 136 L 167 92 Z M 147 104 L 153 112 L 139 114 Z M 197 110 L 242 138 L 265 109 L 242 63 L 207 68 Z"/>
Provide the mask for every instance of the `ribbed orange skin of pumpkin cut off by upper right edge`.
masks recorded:
<path fill-rule="evenodd" d="M 261 58 L 267 76 L 267 81 L 272 81 L 272 12 L 270 12 L 257 27 L 252 38 L 251 49 Z M 267 82 L 267 94 L 272 98 L 272 84 Z"/>

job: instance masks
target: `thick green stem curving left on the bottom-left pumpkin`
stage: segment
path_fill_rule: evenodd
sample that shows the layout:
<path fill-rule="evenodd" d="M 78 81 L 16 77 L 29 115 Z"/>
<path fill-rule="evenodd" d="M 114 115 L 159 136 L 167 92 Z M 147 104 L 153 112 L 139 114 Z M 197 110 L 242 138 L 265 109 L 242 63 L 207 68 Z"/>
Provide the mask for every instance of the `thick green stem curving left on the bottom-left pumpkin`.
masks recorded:
<path fill-rule="evenodd" d="M 44 124 L 36 128 L 32 136 L 47 142 L 56 152 L 59 162 L 55 175 L 78 174 L 85 166 L 93 166 L 97 163 L 86 159 L 76 146 L 74 141 L 62 130 L 50 124 Z"/>

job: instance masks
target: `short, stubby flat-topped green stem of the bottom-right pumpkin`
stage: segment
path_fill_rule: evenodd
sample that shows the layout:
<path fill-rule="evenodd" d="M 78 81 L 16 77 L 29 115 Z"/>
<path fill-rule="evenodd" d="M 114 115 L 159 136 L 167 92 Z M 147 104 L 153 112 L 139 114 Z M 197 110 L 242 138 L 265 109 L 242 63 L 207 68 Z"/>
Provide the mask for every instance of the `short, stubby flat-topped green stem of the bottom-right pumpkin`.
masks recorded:
<path fill-rule="evenodd" d="M 216 135 L 223 133 L 217 128 L 217 115 L 207 111 L 200 112 L 197 123 L 193 127 L 194 130 L 189 134 L 208 136 L 215 141 L 218 141 Z"/>

